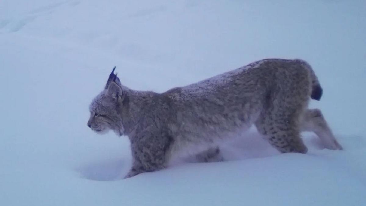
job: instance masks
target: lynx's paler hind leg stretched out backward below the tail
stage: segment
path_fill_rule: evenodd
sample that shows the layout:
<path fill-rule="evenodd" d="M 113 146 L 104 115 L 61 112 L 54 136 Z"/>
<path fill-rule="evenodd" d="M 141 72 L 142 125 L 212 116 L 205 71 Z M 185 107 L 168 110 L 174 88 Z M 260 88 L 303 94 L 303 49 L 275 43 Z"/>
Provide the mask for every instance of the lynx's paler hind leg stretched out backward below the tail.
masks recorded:
<path fill-rule="evenodd" d="M 307 109 L 301 124 L 302 131 L 314 132 L 330 150 L 343 150 L 319 109 Z"/>

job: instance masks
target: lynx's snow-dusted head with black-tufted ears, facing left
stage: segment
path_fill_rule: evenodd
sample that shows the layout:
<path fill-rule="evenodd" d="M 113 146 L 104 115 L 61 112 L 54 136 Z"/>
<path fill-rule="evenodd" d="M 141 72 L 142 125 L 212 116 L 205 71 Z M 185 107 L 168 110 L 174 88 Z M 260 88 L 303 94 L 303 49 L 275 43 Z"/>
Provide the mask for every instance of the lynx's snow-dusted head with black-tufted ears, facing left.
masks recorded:
<path fill-rule="evenodd" d="M 118 136 L 124 134 L 120 113 L 126 90 L 121 85 L 113 68 L 104 90 L 96 96 L 89 106 L 90 118 L 87 125 L 97 133 L 107 133 L 110 129 Z"/>

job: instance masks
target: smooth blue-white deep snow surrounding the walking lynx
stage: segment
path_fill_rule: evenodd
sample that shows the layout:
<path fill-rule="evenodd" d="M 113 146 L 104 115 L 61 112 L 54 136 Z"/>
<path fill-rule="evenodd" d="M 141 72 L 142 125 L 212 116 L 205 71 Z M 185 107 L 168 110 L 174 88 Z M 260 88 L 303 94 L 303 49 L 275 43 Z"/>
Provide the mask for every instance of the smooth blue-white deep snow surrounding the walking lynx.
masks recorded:
<path fill-rule="evenodd" d="M 0 1 L 0 205 L 365 205 L 366 3 Z M 164 92 L 264 58 L 310 63 L 343 151 L 304 133 L 279 154 L 255 130 L 219 163 L 178 161 L 121 179 L 127 137 L 97 135 L 88 106 L 113 66 Z"/>

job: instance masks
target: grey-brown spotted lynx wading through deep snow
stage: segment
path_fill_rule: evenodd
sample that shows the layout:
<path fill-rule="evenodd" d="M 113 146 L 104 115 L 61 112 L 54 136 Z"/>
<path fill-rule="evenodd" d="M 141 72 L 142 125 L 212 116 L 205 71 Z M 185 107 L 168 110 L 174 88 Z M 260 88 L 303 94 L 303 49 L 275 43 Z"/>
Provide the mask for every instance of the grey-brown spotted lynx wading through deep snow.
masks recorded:
<path fill-rule="evenodd" d="M 164 93 L 127 88 L 114 70 L 90 104 L 87 125 L 128 136 L 132 168 L 125 178 L 166 168 L 172 155 L 191 147 L 205 148 L 200 161 L 222 161 L 217 140 L 253 124 L 280 152 L 306 153 L 301 131 L 315 132 L 325 148 L 342 149 L 321 111 L 308 108 L 322 88 L 304 60 L 263 59 Z"/>

